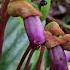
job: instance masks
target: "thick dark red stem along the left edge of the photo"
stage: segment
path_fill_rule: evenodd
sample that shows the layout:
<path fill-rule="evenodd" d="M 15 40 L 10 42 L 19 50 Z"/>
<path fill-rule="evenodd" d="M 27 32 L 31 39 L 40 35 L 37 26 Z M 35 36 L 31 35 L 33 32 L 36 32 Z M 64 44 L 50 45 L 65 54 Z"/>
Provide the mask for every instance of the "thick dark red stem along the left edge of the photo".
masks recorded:
<path fill-rule="evenodd" d="M 7 6 L 10 0 L 3 0 L 2 6 L 0 8 L 0 54 L 2 53 L 3 39 L 4 39 L 4 30 L 6 22 L 8 20 Z"/>

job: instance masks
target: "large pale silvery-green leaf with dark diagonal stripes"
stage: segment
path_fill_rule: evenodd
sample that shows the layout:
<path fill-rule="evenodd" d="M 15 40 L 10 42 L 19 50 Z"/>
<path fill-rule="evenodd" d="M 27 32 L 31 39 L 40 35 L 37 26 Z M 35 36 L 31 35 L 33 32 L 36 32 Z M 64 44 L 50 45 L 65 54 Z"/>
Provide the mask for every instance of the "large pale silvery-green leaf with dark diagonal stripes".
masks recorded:
<path fill-rule="evenodd" d="M 10 17 L 5 30 L 0 70 L 16 70 L 29 41 L 21 17 Z"/>

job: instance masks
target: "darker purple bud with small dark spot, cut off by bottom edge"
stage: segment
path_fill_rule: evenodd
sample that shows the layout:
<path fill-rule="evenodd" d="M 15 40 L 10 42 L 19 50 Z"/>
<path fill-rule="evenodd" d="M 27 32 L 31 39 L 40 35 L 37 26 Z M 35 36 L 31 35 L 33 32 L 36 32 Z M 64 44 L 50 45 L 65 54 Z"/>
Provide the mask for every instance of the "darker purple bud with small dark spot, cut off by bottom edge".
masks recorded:
<path fill-rule="evenodd" d="M 68 70 L 66 56 L 61 46 L 49 50 L 51 70 Z"/>

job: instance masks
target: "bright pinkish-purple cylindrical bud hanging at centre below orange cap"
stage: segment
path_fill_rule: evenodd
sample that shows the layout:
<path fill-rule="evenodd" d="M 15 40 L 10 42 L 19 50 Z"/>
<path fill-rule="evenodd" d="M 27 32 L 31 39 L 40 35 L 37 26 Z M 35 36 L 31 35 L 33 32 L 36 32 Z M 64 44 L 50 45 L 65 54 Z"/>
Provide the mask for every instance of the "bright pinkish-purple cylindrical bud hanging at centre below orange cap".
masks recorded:
<path fill-rule="evenodd" d="M 38 16 L 25 19 L 25 29 L 32 44 L 43 44 L 45 42 L 44 27 Z"/>

